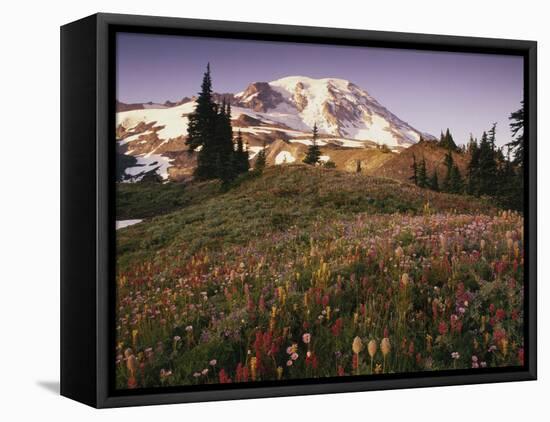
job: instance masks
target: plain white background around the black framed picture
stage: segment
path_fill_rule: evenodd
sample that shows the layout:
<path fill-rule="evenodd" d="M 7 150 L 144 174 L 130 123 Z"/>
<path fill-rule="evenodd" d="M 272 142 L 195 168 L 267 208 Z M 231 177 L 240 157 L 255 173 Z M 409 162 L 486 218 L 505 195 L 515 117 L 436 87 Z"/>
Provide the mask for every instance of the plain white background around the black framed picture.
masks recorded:
<path fill-rule="evenodd" d="M 544 1 L 23 1 L 0 24 L 0 419 L 548 420 L 547 183 L 539 169 L 539 380 L 447 388 L 93 410 L 57 395 L 59 26 L 103 11 L 539 42 L 539 157 L 550 157 L 550 31 Z M 452 98 L 450 99 L 452 101 Z M 91 334 L 91 333 L 90 333 Z M 545 389 L 547 390 L 545 393 Z"/>

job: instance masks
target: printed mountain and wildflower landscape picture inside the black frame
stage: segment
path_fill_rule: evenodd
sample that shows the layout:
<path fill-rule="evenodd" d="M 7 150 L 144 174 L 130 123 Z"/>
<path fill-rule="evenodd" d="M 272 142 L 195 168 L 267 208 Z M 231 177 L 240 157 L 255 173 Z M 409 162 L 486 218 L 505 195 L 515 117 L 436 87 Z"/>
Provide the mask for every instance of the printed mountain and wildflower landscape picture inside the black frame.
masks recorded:
<path fill-rule="evenodd" d="M 118 37 L 117 389 L 524 364 L 520 58 Z"/>

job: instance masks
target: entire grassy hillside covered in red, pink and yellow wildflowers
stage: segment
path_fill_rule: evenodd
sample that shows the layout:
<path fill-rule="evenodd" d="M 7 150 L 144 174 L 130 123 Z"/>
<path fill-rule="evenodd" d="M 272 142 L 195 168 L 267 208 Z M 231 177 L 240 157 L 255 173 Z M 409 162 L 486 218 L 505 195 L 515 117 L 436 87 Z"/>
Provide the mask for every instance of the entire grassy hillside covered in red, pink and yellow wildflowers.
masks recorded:
<path fill-rule="evenodd" d="M 305 166 L 201 187 L 117 232 L 119 388 L 522 364 L 520 214 Z"/>

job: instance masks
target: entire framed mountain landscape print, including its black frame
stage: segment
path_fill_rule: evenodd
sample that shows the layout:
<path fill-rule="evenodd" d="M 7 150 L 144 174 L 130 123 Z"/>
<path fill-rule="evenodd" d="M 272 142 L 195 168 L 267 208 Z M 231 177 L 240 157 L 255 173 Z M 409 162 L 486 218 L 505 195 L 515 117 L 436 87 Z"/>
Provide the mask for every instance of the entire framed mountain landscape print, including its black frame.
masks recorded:
<path fill-rule="evenodd" d="M 61 53 L 63 395 L 536 379 L 535 42 L 97 14 Z"/>

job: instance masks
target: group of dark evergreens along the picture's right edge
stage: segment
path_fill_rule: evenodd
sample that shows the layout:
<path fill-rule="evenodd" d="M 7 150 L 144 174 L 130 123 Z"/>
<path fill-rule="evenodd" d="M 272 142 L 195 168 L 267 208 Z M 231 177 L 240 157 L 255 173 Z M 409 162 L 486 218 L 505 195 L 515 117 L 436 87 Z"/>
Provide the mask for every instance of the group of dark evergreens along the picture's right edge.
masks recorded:
<path fill-rule="evenodd" d="M 442 132 L 437 144 L 446 149 L 443 160 L 444 178 L 440 180 L 438 169 L 428 174 L 426 160 L 413 155 L 410 180 L 417 186 L 435 191 L 467 194 L 476 197 L 489 196 L 500 206 L 523 209 L 524 186 L 524 104 L 511 113 L 512 141 L 503 147 L 496 145 L 497 125 L 494 123 L 478 140 L 470 135 L 467 145 L 458 147 L 449 129 Z M 420 141 L 423 141 L 421 138 Z M 453 153 L 469 156 L 465 174 L 453 159 Z"/>

